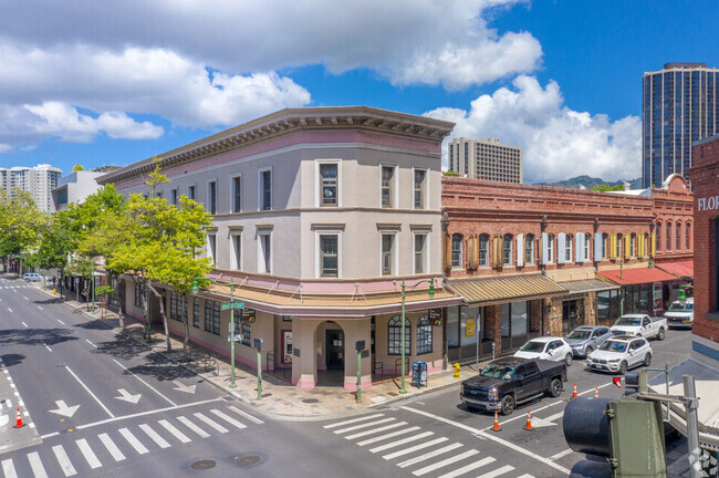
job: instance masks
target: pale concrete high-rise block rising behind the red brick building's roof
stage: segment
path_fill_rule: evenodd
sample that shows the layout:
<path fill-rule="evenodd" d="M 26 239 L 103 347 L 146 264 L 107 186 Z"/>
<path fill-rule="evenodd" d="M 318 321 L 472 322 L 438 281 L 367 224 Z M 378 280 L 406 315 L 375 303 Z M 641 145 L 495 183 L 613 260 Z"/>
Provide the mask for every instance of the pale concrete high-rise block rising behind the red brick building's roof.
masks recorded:
<path fill-rule="evenodd" d="M 448 146 L 449 169 L 477 179 L 522 184 L 522 148 L 499 138 L 455 138 Z"/>

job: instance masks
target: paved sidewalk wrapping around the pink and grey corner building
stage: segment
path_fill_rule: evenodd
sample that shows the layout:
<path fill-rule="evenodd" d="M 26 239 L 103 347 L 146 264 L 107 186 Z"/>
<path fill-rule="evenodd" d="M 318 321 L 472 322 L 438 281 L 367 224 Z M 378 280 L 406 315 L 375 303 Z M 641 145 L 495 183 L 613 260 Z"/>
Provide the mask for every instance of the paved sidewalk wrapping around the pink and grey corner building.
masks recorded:
<path fill-rule="evenodd" d="M 42 290 L 39 288 L 39 290 Z M 49 295 L 52 294 L 52 289 L 44 291 Z M 58 294 L 55 298 L 60 298 Z M 95 313 L 86 311 L 86 304 L 79 303 L 74 300 L 64 302 L 67 306 L 75 309 L 79 313 L 82 312 L 88 318 L 101 320 L 100 305 L 95 304 Z M 118 332 L 119 321 L 115 312 L 105 312 L 105 319 L 102 320 L 108 329 L 115 329 Z M 157 325 L 155 325 L 157 329 Z M 173 352 L 166 351 L 165 335 L 157 330 L 153 331 L 152 343 L 143 337 L 145 324 L 133 318 L 125 318 L 124 333 L 140 341 L 153 351 L 163 354 L 169 360 L 180 363 L 183 360 L 183 342 L 181 339 L 171 336 L 170 344 Z M 200 356 L 207 353 L 207 350 L 198 346 L 197 344 L 188 344 L 189 356 Z M 356 403 L 356 393 L 348 392 L 342 387 L 316 386 L 311 389 L 299 388 L 293 386 L 289 380 L 282 378 L 282 371 L 278 372 L 262 372 L 262 398 L 257 398 L 257 368 L 249 367 L 239 362 L 236 363 L 236 388 L 230 388 L 230 363 L 229 357 L 218 356 L 219 374 L 218 376 L 208 373 L 204 367 L 200 368 L 192 364 L 181 364 L 183 366 L 191 370 L 197 375 L 207 380 L 208 383 L 226 391 L 243 402 L 252 405 L 261 414 L 268 415 L 278 419 L 302 420 L 302 419 L 326 419 L 335 418 L 344 415 L 352 415 L 363 409 L 373 406 L 386 405 L 393 402 L 414 398 L 418 395 L 428 392 L 438 391 L 446 387 L 458 386 L 459 383 L 475 375 L 477 372 L 471 367 L 462 367 L 460 371 L 460 378 L 454 378 L 454 368 L 433 373 L 428 376 L 428 386 L 418 389 L 416 386 L 409 386 L 410 377 L 407 376 L 406 388 L 407 394 L 399 394 L 399 378 L 385 378 L 382 383 L 373 385 L 371 388 L 362 391 L 362 402 Z M 480 363 L 483 366 L 484 363 Z M 289 376 L 288 376 L 289 378 Z M 459 392 L 456 397 L 459 403 Z"/>

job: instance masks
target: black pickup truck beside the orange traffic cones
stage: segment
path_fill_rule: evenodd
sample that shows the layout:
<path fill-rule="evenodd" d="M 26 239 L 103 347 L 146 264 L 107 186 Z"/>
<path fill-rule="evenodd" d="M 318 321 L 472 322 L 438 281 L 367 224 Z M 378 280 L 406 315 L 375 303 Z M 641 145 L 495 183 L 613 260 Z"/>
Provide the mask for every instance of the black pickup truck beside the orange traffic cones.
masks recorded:
<path fill-rule="evenodd" d="M 459 397 L 470 408 L 509 415 L 517 404 L 544 394 L 560 396 L 566 382 L 564 362 L 500 358 L 462 382 Z"/>

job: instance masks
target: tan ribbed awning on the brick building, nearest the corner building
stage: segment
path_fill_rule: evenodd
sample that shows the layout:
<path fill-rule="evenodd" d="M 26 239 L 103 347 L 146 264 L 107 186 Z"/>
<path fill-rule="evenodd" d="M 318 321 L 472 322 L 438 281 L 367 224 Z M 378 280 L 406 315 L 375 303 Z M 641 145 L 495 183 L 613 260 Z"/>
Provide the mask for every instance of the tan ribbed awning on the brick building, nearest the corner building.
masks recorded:
<path fill-rule="evenodd" d="M 567 293 L 565 288 L 542 274 L 457 279 L 449 281 L 446 287 L 462 297 L 467 305 L 490 305 Z"/>

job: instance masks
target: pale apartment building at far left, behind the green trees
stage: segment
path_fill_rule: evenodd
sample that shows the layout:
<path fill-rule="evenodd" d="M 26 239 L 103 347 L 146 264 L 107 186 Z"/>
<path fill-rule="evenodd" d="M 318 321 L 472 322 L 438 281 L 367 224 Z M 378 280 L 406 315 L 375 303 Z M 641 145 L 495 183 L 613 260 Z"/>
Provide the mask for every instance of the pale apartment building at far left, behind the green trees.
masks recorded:
<path fill-rule="evenodd" d="M 38 209 L 51 211 L 53 210 L 51 191 L 58 187 L 61 175 L 60 168 L 44 164 L 32 168 L 22 166 L 0 168 L 0 187 L 10 197 L 15 196 L 17 189 L 28 191 L 38 205 Z"/>

